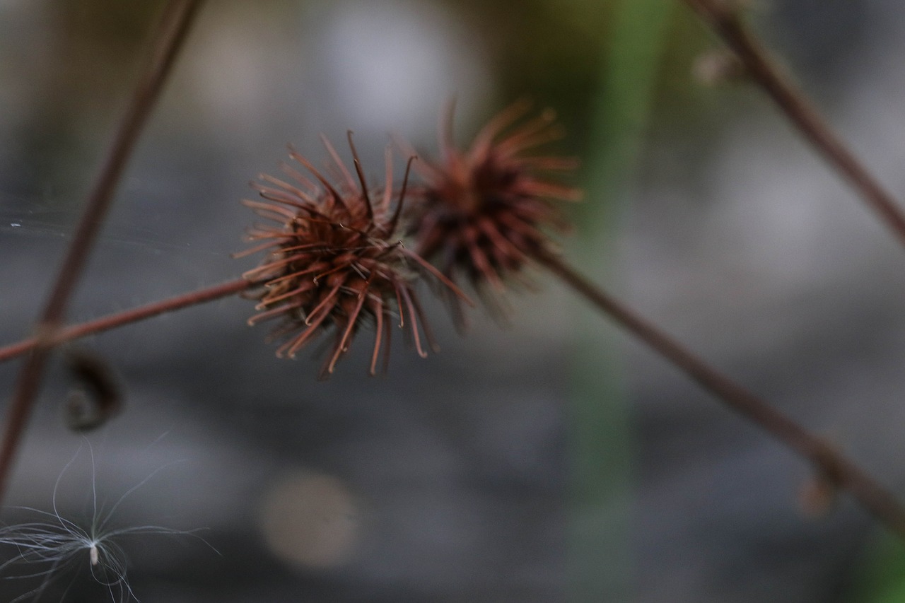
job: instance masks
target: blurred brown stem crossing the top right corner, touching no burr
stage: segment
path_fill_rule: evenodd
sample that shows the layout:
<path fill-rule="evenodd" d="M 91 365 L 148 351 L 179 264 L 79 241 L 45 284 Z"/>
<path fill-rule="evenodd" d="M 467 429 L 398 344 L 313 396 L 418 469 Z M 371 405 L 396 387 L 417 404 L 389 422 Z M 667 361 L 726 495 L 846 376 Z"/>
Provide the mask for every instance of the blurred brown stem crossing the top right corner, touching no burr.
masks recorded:
<path fill-rule="evenodd" d="M 737 7 L 727 0 L 685 0 L 729 45 L 745 65 L 752 80 L 776 102 L 786 118 L 804 135 L 831 166 L 854 187 L 863 201 L 905 244 L 905 213 L 876 177 L 855 158 L 805 94 L 789 81 L 769 57 L 764 46 L 739 18 Z M 737 4 L 737 3 L 736 3 Z"/>

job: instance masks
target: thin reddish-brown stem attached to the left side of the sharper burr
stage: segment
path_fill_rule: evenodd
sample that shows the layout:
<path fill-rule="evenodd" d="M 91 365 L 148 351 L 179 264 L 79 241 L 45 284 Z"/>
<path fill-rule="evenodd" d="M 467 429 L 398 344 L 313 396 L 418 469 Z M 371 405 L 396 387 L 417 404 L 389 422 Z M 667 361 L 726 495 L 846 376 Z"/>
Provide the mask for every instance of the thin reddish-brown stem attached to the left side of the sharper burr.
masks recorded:
<path fill-rule="evenodd" d="M 148 303 L 132 310 L 101 316 L 93 321 L 62 327 L 56 330 L 47 340 L 44 340 L 43 346 L 46 348 L 56 347 L 67 341 L 78 340 L 105 330 L 116 329 L 132 322 L 144 321 L 160 314 L 195 306 L 199 303 L 213 302 L 214 300 L 233 295 L 233 293 L 243 292 L 252 286 L 256 286 L 255 283 L 244 279 L 224 282 L 207 289 L 184 293 L 160 302 Z M 0 348 L 0 362 L 5 362 L 30 352 L 38 347 L 38 341 L 37 337 L 30 337 L 27 340 L 11 343 Z"/>

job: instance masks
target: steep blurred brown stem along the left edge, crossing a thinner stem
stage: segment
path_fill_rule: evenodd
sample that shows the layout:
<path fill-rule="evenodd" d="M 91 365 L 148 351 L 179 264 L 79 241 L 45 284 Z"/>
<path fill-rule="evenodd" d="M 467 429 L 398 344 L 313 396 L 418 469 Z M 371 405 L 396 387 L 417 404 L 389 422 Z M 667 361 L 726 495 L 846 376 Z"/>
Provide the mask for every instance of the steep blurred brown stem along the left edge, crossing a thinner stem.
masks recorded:
<path fill-rule="evenodd" d="M 55 331 L 65 316 L 71 293 L 81 277 L 100 226 L 110 209 L 119 178 L 126 168 L 141 130 L 148 122 L 151 110 L 160 97 L 167 75 L 172 71 L 173 63 L 176 61 L 176 54 L 182 47 L 201 4 L 201 0 L 170 0 L 151 38 L 151 53 L 147 65 L 95 179 L 69 251 L 41 314 L 37 326 L 37 345 L 24 363 L 16 382 L 13 402 L 6 412 L 3 444 L 0 445 L 0 500 L 6 491 L 15 451 L 40 387 L 50 351 L 48 342 L 53 340 Z"/>

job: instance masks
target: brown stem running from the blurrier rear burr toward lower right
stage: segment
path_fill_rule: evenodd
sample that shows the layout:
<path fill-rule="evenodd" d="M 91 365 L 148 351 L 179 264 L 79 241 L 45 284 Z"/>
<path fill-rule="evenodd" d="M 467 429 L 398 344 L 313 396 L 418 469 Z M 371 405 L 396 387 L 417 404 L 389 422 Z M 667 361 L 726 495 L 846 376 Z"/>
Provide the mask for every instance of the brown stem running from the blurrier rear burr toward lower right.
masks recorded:
<path fill-rule="evenodd" d="M 538 261 L 621 327 L 697 381 L 702 388 L 710 391 L 727 407 L 747 417 L 797 455 L 804 457 L 822 478 L 840 490 L 851 493 L 879 522 L 905 538 L 905 507 L 889 490 L 835 451 L 832 445 L 710 367 L 691 350 L 576 273 L 561 258 L 547 254 L 538 257 Z"/>

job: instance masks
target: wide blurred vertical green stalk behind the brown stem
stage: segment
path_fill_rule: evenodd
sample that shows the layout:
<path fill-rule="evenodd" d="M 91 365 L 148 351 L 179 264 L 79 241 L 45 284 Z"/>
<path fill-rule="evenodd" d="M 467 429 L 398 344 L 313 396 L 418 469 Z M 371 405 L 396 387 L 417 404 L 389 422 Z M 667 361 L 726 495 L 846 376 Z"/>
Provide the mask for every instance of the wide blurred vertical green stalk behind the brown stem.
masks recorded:
<path fill-rule="evenodd" d="M 672 5 L 621 0 L 614 9 L 584 165 L 580 243 L 570 254 L 597 282 L 606 280 L 611 235 L 632 196 Z M 632 428 L 622 371 L 605 317 L 586 306 L 575 315 L 569 596 L 576 602 L 627 601 L 633 598 Z"/>

